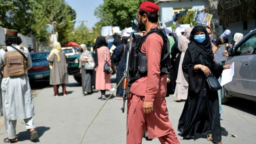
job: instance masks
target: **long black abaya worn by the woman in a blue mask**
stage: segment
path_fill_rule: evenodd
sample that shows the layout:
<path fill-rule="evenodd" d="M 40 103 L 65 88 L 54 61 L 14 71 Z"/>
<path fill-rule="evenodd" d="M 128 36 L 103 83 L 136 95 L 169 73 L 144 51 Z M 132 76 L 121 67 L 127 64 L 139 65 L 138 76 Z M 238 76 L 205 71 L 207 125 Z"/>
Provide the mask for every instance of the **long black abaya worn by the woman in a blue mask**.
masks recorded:
<path fill-rule="evenodd" d="M 194 70 L 196 64 L 202 64 L 193 54 L 195 50 L 187 49 L 182 63 L 185 79 L 189 83 L 188 99 L 180 116 L 178 131 L 185 138 L 194 138 L 195 133 L 212 133 L 214 141 L 221 140 L 218 92 L 208 90 L 204 73 L 201 69 Z M 223 66 L 214 61 L 207 66 L 218 78 Z"/>

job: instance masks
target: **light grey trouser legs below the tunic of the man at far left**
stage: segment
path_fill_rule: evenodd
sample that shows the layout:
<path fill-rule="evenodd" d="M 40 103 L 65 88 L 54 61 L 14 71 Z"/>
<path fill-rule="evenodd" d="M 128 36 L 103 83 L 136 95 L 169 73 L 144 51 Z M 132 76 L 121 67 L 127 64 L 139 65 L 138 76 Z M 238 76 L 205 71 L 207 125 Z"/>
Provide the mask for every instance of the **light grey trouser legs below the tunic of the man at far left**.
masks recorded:
<path fill-rule="evenodd" d="M 31 129 L 34 128 L 36 129 L 36 127 L 33 125 L 33 117 L 28 118 L 28 119 L 23 119 L 24 122 L 26 123 L 26 129 Z M 14 139 L 16 137 L 16 123 L 17 120 L 9 120 L 7 119 L 7 117 L 4 117 L 4 125 L 5 125 L 5 129 L 8 133 L 8 138 L 9 139 Z"/>

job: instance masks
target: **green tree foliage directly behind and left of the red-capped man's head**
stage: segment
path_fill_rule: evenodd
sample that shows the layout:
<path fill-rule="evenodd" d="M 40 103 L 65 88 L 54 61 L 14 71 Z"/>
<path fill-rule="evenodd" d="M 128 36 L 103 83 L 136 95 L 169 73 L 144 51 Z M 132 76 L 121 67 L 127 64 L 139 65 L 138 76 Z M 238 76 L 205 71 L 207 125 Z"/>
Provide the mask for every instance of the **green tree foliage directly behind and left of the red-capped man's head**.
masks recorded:
<path fill-rule="evenodd" d="M 120 26 L 121 29 L 125 27 L 133 27 L 136 23 L 136 14 L 138 7 L 145 0 L 104 0 L 94 10 L 94 15 L 100 18 L 97 26 Z M 156 0 L 148 0 L 156 2 Z"/>

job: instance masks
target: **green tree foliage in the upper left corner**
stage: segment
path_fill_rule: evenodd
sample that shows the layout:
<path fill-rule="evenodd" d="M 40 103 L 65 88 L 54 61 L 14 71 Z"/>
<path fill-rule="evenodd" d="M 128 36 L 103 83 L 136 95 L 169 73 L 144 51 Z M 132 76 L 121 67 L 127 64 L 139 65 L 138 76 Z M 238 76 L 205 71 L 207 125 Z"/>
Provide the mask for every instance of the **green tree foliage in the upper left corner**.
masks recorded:
<path fill-rule="evenodd" d="M 21 34 L 32 33 L 38 42 L 47 42 L 46 25 L 56 22 L 62 44 L 69 41 L 76 19 L 76 11 L 65 0 L 1 0 L 0 26 L 16 29 Z"/>

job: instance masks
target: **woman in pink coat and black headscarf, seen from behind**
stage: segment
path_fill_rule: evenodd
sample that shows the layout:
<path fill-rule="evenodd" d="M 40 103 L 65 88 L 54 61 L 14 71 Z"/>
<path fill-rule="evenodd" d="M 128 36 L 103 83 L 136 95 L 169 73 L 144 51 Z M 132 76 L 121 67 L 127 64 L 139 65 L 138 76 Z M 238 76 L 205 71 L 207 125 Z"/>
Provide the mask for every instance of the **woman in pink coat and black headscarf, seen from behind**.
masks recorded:
<path fill-rule="evenodd" d="M 104 100 L 104 99 L 107 99 L 106 90 L 111 89 L 110 74 L 107 74 L 103 71 L 103 67 L 105 64 L 105 55 L 106 55 L 106 62 L 109 64 L 111 68 L 109 49 L 107 47 L 108 44 L 105 37 L 98 37 L 96 39 L 95 45 L 96 45 L 95 56 L 98 58 L 95 61 L 96 68 L 94 69 L 96 71 L 95 89 L 100 90 L 101 100 Z"/>

